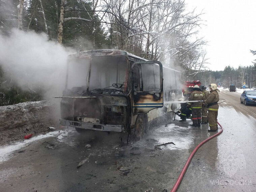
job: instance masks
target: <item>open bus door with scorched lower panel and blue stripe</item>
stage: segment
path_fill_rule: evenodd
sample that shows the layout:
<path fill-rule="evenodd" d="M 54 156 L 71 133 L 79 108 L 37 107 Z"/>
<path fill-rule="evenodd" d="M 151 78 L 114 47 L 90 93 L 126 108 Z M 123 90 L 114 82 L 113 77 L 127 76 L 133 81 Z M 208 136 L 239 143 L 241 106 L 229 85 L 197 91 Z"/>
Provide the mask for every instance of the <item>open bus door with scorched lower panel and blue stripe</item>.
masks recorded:
<path fill-rule="evenodd" d="M 138 61 L 132 65 L 132 112 L 146 114 L 163 107 L 163 68 L 159 61 Z"/>

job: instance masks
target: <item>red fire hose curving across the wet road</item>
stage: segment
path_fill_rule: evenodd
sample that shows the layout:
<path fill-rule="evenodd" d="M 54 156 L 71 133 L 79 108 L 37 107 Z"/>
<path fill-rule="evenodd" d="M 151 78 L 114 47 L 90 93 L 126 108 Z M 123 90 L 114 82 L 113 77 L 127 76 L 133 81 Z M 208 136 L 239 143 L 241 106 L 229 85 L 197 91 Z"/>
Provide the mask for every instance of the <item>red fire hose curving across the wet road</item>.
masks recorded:
<path fill-rule="evenodd" d="M 171 192 L 175 192 L 177 190 L 177 188 L 179 187 L 180 183 L 181 183 L 181 180 L 188 168 L 188 165 L 192 159 L 192 157 L 194 156 L 194 154 L 196 153 L 196 151 L 199 149 L 199 147 L 201 147 L 205 142 L 209 141 L 210 139 L 216 137 L 217 135 L 221 134 L 223 132 L 223 127 L 221 126 L 221 124 L 218 122 L 219 126 L 221 127 L 221 131 L 216 133 L 215 135 L 205 139 L 204 141 L 202 141 L 198 146 L 196 146 L 196 148 L 193 150 L 193 152 L 190 154 L 185 166 L 183 167 L 182 171 L 181 171 L 181 174 L 179 176 L 179 178 L 177 179 L 175 185 L 173 186 L 173 188 L 171 189 Z"/>

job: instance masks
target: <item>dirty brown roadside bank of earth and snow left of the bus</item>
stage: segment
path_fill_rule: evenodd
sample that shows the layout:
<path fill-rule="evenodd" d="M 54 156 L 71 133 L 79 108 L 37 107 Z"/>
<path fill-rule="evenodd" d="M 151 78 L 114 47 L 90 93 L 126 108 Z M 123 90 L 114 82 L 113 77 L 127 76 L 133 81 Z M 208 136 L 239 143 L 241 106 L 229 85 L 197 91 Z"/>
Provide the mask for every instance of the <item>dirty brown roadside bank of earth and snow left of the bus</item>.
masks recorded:
<path fill-rule="evenodd" d="M 56 127 L 59 125 L 57 108 L 52 101 L 0 106 L 0 144 L 20 140 L 29 133 L 48 132 L 48 126 Z"/>

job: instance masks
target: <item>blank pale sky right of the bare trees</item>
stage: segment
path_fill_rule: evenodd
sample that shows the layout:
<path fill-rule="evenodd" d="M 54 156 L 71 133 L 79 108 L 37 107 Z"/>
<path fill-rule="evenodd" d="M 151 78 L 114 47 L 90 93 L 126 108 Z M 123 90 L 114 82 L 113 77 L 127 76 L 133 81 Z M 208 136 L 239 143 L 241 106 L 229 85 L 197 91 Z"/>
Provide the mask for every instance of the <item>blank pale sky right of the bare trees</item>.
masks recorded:
<path fill-rule="evenodd" d="M 225 66 L 253 65 L 256 59 L 256 0 L 186 0 L 188 10 L 204 13 L 199 36 L 208 41 L 208 67 L 223 70 Z"/>

